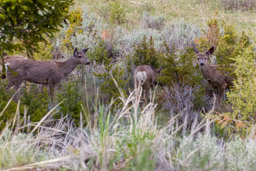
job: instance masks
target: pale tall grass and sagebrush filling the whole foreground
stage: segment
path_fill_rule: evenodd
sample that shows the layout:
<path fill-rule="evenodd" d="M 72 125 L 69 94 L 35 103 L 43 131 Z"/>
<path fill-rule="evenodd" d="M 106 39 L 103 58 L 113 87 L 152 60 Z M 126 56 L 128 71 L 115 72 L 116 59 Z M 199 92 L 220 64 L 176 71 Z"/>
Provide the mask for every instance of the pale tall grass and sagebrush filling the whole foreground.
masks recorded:
<path fill-rule="evenodd" d="M 212 135 L 214 120 L 206 114 L 200 123 L 177 124 L 183 113 L 161 125 L 156 105 L 140 103 L 141 90 L 135 90 L 122 105 L 112 110 L 99 103 L 94 117 L 81 113 L 87 126 L 74 127 L 61 118 L 49 123 L 54 108 L 40 122 L 11 126 L 0 134 L 0 168 L 70 170 L 255 170 L 254 136 L 224 142 Z M 152 98 L 153 99 L 153 98 Z M 57 107 L 57 106 L 56 106 Z M 82 122 L 82 121 L 81 121 Z M 31 133 L 23 128 L 32 126 Z M 183 128 L 185 133 L 182 134 Z"/>

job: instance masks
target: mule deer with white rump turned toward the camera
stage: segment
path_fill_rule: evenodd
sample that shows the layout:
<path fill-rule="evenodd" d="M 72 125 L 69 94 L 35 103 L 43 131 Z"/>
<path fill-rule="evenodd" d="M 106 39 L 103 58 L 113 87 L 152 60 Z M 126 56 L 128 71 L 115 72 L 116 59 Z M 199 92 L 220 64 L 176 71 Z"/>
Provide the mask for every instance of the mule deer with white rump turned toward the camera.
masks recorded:
<path fill-rule="evenodd" d="M 157 76 L 160 72 L 161 69 L 154 69 L 150 65 L 140 65 L 136 67 L 133 75 L 135 88 L 137 89 L 139 86 L 142 86 L 145 100 L 149 98 L 150 88 L 153 89 L 156 85 Z"/>

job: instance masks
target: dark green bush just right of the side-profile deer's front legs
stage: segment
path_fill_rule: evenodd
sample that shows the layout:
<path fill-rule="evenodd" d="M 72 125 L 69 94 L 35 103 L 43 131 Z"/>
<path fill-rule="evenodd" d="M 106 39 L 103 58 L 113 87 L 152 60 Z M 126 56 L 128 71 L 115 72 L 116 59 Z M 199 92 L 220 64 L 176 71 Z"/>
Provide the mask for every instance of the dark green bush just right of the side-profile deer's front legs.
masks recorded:
<path fill-rule="evenodd" d="M 81 105 L 83 104 L 79 82 L 68 81 L 57 95 L 57 101 L 63 102 L 60 104 L 60 112 L 54 117 L 59 119 L 61 116 L 68 115 L 76 126 L 78 126 L 80 123 L 80 113 L 82 111 Z"/>

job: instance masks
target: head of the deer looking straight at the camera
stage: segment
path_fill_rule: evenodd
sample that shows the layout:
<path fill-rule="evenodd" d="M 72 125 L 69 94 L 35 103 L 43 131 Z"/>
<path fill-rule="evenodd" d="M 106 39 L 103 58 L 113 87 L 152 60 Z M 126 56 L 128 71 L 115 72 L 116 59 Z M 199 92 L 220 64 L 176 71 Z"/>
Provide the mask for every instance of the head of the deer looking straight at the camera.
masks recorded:
<path fill-rule="evenodd" d="M 211 47 L 207 52 L 205 53 L 201 53 L 199 52 L 195 45 L 193 44 L 193 48 L 194 48 L 194 51 L 196 52 L 196 55 L 197 55 L 197 62 L 198 62 L 198 65 L 200 68 L 203 68 L 203 67 L 206 67 L 209 65 L 209 56 L 213 54 L 214 52 L 214 47 Z"/>

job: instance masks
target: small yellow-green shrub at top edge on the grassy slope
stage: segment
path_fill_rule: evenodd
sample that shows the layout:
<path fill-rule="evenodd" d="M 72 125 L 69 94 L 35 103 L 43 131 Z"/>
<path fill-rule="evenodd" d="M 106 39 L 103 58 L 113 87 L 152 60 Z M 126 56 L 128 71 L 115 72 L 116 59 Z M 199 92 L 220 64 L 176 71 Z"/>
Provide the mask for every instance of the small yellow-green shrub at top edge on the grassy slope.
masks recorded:
<path fill-rule="evenodd" d="M 109 4 L 110 22 L 113 24 L 123 24 L 125 22 L 125 10 L 119 0 L 114 0 Z"/>

